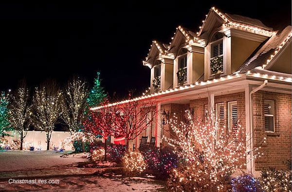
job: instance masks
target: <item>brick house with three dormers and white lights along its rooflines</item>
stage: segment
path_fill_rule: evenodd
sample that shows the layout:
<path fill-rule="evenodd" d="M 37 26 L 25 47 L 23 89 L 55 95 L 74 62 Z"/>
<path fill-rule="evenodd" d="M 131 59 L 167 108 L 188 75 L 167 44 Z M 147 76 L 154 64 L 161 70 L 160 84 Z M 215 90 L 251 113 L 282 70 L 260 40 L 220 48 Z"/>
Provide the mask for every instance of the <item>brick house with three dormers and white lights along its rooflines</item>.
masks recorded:
<path fill-rule="evenodd" d="M 171 137 L 171 130 L 161 111 L 188 110 L 203 121 L 212 108 L 220 126 L 245 127 L 249 145 L 266 138 L 264 155 L 247 162 L 248 171 L 282 168 L 292 150 L 291 35 L 291 26 L 273 30 L 213 7 L 200 31 L 179 26 L 170 44 L 153 41 L 143 61 L 151 70 L 150 88 L 135 98 L 157 102 L 155 122 L 143 136 L 156 137 L 156 146 L 163 146 L 162 135 Z"/>

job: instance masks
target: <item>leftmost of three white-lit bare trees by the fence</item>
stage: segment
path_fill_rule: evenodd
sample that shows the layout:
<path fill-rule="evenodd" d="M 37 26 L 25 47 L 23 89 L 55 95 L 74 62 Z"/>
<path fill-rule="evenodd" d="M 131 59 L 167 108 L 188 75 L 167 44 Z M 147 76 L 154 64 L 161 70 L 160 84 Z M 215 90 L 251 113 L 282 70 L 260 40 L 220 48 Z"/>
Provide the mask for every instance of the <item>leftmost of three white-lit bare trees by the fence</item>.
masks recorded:
<path fill-rule="evenodd" d="M 30 115 L 32 106 L 29 102 L 29 89 L 25 80 L 20 81 L 18 89 L 11 95 L 9 105 L 9 122 L 20 137 L 20 150 L 22 150 L 23 140 L 27 135 L 30 125 Z"/>

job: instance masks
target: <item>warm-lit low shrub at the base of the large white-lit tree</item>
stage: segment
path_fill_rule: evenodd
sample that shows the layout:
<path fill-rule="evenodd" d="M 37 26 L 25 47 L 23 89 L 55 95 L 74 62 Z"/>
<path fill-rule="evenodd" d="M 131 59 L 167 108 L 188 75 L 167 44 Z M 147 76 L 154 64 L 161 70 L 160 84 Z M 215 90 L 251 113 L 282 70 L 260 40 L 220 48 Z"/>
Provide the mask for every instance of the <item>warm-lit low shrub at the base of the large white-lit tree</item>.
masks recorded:
<path fill-rule="evenodd" d="M 208 166 L 195 163 L 173 169 L 167 189 L 175 192 L 227 192 L 231 190 L 230 175 L 210 175 Z"/>

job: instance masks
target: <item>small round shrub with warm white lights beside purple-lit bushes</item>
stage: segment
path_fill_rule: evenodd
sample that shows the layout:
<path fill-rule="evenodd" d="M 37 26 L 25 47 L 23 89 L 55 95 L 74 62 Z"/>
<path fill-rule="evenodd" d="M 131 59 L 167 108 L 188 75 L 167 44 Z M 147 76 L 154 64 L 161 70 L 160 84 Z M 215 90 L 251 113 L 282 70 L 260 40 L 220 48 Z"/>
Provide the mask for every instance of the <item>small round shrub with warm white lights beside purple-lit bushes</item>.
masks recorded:
<path fill-rule="evenodd" d="M 141 174 L 146 169 L 146 163 L 143 159 L 143 155 L 138 151 L 126 153 L 125 157 L 123 157 L 123 164 L 125 171 L 128 173 Z"/>

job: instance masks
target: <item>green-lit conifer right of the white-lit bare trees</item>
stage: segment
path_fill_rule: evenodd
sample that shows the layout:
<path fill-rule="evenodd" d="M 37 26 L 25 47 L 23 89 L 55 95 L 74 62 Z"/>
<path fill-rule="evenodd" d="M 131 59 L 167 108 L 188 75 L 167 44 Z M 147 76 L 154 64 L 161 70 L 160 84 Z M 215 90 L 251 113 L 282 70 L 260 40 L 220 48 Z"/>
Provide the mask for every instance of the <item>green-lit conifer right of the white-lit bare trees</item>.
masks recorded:
<path fill-rule="evenodd" d="M 89 92 L 87 98 L 87 104 L 89 107 L 95 107 L 103 104 L 107 99 L 107 93 L 104 90 L 104 87 L 100 86 L 100 73 L 97 72 L 97 77 L 94 79 L 94 86 Z"/>

